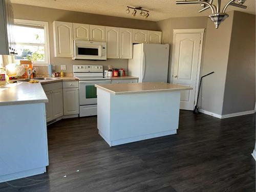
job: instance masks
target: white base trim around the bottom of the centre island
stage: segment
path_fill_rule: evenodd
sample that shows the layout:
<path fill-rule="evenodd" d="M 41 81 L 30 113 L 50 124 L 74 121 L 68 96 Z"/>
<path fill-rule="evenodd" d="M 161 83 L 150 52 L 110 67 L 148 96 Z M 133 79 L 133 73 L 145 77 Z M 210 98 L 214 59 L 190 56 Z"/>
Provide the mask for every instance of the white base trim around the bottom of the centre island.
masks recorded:
<path fill-rule="evenodd" d="M 177 134 L 177 130 L 170 130 L 170 131 L 164 131 L 164 132 L 159 132 L 159 133 L 152 133 L 152 134 L 147 134 L 147 135 L 141 135 L 141 136 L 136 136 L 136 137 L 131 137 L 131 138 L 110 141 L 99 131 L 99 135 L 110 146 L 116 146 L 116 145 L 121 145 L 121 144 L 125 144 L 125 143 L 132 143 L 132 142 L 136 142 L 136 141 L 152 139 L 152 138 L 156 138 L 156 137 L 163 137 L 163 136 L 167 136 L 167 135 L 174 135 L 174 134 Z"/>

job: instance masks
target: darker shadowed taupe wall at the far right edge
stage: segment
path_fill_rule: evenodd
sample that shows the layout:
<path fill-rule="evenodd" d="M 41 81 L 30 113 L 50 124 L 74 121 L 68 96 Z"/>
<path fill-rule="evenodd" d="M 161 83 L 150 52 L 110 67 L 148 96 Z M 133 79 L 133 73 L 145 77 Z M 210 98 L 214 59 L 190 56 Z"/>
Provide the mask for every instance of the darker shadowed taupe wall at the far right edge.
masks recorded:
<path fill-rule="evenodd" d="M 222 115 L 255 105 L 255 15 L 234 11 Z"/>

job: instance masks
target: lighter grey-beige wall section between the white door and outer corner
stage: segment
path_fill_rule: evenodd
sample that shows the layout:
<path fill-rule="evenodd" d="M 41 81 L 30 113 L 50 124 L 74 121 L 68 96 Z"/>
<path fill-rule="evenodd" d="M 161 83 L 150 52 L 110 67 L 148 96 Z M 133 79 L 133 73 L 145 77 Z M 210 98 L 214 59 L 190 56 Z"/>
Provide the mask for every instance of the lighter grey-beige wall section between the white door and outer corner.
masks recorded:
<path fill-rule="evenodd" d="M 208 19 L 201 74 L 215 73 L 207 76 L 202 82 L 201 109 L 222 114 L 223 97 L 227 73 L 227 62 L 230 47 L 233 12 L 216 29 Z"/>

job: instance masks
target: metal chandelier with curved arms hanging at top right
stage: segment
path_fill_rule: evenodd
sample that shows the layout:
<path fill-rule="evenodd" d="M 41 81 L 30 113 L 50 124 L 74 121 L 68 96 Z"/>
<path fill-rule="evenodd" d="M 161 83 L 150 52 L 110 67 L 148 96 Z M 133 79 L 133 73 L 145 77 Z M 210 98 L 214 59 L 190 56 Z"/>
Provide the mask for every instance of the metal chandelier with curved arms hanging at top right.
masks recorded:
<path fill-rule="evenodd" d="M 209 15 L 209 18 L 211 19 L 212 22 L 214 22 L 216 29 L 218 29 L 221 22 L 223 22 L 223 20 L 225 20 L 228 17 L 228 14 L 225 13 L 225 11 L 229 5 L 234 7 L 240 7 L 243 9 L 247 8 L 247 6 L 243 5 L 246 0 L 231 0 L 224 6 L 224 8 L 221 11 L 221 0 L 217 0 L 217 6 L 212 4 L 213 1 L 214 0 L 198 0 L 198 1 L 185 0 L 185 1 L 177 1 L 176 4 L 200 4 L 202 9 L 199 10 L 199 12 L 202 12 L 206 9 L 210 9 L 211 14 Z M 236 3 L 236 1 L 238 3 Z"/>

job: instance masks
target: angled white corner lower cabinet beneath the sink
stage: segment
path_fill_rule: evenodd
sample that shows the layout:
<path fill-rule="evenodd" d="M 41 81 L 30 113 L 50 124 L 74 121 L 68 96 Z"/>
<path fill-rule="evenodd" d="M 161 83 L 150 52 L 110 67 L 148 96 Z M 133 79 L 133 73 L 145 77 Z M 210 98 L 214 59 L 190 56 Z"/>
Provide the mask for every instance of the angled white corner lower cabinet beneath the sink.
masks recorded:
<path fill-rule="evenodd" d="M 62 83 L 42 84 L 42 88 L 49 100 L 46 103 L 46 121 L 49 122 L 63 115 Z"/>

